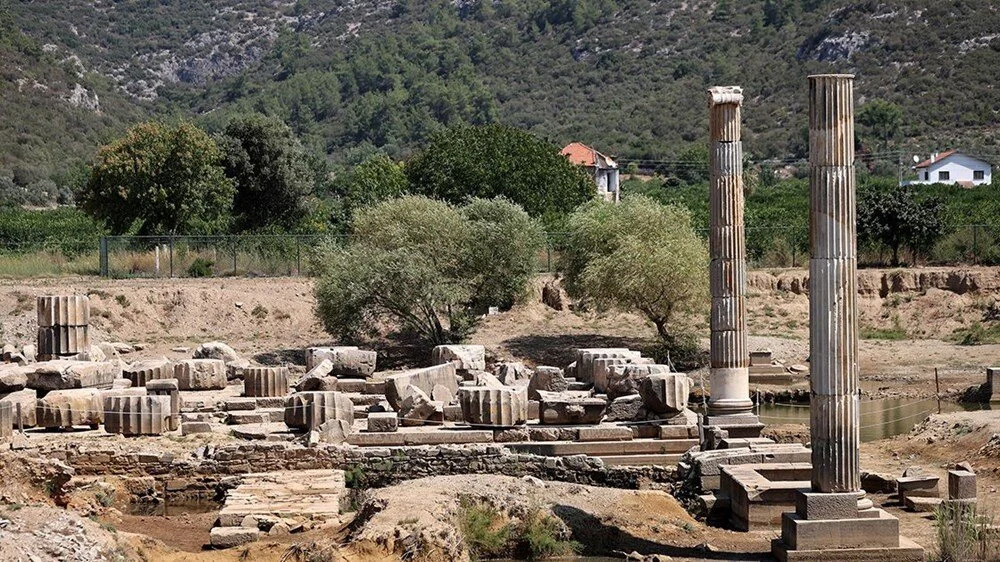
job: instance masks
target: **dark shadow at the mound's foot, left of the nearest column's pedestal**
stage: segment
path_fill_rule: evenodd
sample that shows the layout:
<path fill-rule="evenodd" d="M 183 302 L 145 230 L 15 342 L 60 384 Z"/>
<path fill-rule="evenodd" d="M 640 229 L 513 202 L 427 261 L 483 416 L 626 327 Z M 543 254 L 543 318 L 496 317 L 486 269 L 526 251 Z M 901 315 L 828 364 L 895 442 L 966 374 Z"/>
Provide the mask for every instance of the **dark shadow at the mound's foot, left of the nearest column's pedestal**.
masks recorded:
<path fill-rule="evenodd" d="M 583 545 L 584 556 L 611 556 L 622 552 L 638 552 L 643 555 L 662 554 L 673 558 L 694 558 L 697 560 L 774 560 L 769 553 L 726 552 L 698 546 L 675 546 L 636 537 L 617 527 L 605 525 L 593 515 L 568 505 L 552 507 L 556 514 L 572 530 L 573 540 Z"/>

